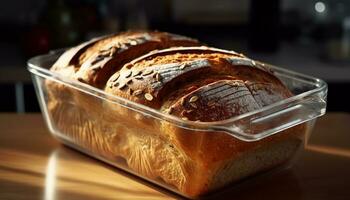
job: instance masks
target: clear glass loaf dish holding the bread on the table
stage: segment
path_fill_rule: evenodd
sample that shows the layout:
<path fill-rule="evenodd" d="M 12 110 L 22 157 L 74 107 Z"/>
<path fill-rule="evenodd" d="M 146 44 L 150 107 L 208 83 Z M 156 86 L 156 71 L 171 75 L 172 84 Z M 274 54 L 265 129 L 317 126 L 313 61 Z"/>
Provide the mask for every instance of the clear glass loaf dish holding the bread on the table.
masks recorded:
<path fill-rule="evenodd" d="M 264 64 L 295 96 L 224 121 L 186 121 L 49 71 L 62 53 L 53 51 L 28 61 L 52 135 L 83 153 L 188 198 L 205 196 L 229 183 L 290 164 L 296 152 L 303 149 L 315 119 L 326 111 L 324 81 Z M 178 144 L 163 144 L 158 151 L 147 146 L 149 137 L 161 141 L 164 127 L 173 130 Z M 202 138 L 200 143 L 198 138 Z M 219 140 L 227 141 L 227 145 Z M 192 152 L 186 154 L 188 160 L 196 161 L 191 163 L 192 169 L 198 171 L 192 170 L 188 176 L 195 178 L 181 179 L 181 187 L 148 169 L 161 163 L 162 169 L 169 170 L 177 158 L 164 160 L 163 151 L 186 152 L 186 148 Z M 183 165 L 175 169 L 181 171 Z"/>

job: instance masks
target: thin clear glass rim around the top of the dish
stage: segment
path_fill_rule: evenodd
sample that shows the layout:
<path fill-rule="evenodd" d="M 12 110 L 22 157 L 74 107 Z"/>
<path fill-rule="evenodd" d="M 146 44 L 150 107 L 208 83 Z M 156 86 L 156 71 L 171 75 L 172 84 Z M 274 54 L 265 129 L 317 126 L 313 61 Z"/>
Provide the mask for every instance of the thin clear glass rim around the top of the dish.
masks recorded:
<path fill-rule="evenodd" d="M 45 67 L 42 67 L 42 64 L 40 62 L 41 59 L 44 58 L 44 59 L 53 60 L 54 56 L 59 56 L 61 53 L 63 53 L 64 50 L 65 49 L 53 50 L 47 54 L 38 55 L 38 56 L 35 56 L 33 58 L 30 58 L 27 61 L 28 71 L 31 72 L 33 75 L 37 75 L 37 76 L 43 77 L 45 79 L 50 79 L 50 80 L 53 80 L 55 82 L 59 82 L 61 84 L 67 85 L 71 88 L 77 89 L 81 92 L 87 93 L 87 94 L 92 95 L 92 96 L 99 98 L 101 100 L 109 101 L 112 103 L 117 103 L 121 106 L 124 106 L 128 109 L 131 109 L 135 112 L 138 112 L 142 115 L 151 116 L 157 120 L 165 120 L 169 123 L 172 123 L 172 124 L 175 124 L 175 125 L 180 126 L 182 128 L 190 129 L 190 130 L 222 131 L 222 132 L 229 132 L 230 131 L 231 132 L 230 135 L 232 135 L 240 140 L 247 141 L 247 142 L 257 141 L 257 140 L 263 139 L 265 137 L 268 137 L 272 134 L 265 135 L 265 136 L 261 137 L 261 136 L 259 136 L 259 133 L 251 135 L 251 134 L 241 133 L 241 132 L 237 132 L 237 131 L 233 132 L 232 130 L 228 130 L 225 127 L 232 126 L 232 124 L 234 124 L 235 122 L 237 122 L 243 118 L 247 118 L 249 116 L 254 116 L 258 113 L 272 111 L 276 107 L 283 106 L 283 105 L 289 105 L 292 102 L 298 101 L 304 97 L 311 96 L 311 95 L 320 93 L 322 91 L 327 92 L 327 90 L 328 90 L 327 83 L 325 81 L 323 81 L 322 79 L 254 60 L 257 63 L 263 64 L 265 67 L 272 69 L 272 71 L 274 71 L 274 72 L 282 72 L 282 73 L 285 73 L 287 75 L 293 75 L 293 77 L 298 78 L 299 81 L 303 81 L 300 78 L 308 79 L 309 80 L 308 82 L 312 82 L 313 85 L 315 86 L 315 88 L 308 90 L 308 91 L 305 91 L 305 92 L 302 92 L 300 94 L 294 95 L 294 96 L 289 97 L 287 99 L 275 102 L 275 103 L 270 104 L 268 106 L 264 106 L 260 109 L 250 111 L 250 112 L 247 112 L 247 113 L 244 113 L 241 115 L 237 115 L 237 116 L 225 119 L 225 120 L 214 121 L 214 122 L 196 122 L 196 121 L 190 121 L 190 120 L 183 120 L 179 117 L 176 117 L 176 116 L 173 116 L 170 114 L 166 114 L 166 113 L 162 113 L 159 110 L 156 110 L 156 109 L 147 107 L 145 105 L 130 101 L 128 99 L 125 99 L 125 98 L 122 98 L 122 97 L 119 97 L 116 95 L 108 94 L 108 93 L 104 92 L 102 89 L 95 88 L 95 87 L 90 86 L 88 84 L 81 83 L 77 80 L 65 77 L 65 76 L 58 74 L 56 72 L 52 72 Z M 324 113 L 321 113 L 320 115 L 323 115 L 323 114 Z M 320 115 L 318 115 L 318 116 L 320 116 Z M 308 120 L 314 119 L 316 117 L 310 118 Z M 295 126 L 295 125 L 298 125 L 298 124 L 293 124 L 293 126 Z M 281 130 L 276 130 L 276 133 L 279 131 L 281 131 Z M 250 138 L 250 139 L 247 139 L 247 138 L 244 139 L 244 138 L 242 138 L 242 136 Z M 254 136 L 254 138 L 252 138 L 253 136 Z"/>

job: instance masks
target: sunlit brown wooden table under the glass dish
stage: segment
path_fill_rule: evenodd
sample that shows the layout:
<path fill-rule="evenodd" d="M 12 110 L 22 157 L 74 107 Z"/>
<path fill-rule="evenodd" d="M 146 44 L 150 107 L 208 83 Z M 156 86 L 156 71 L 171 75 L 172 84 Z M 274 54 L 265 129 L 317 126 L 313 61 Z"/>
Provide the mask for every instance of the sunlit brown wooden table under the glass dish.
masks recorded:
<path fill-rule="evenodd" d="M 217 195 L 350 199 L 350 114 L 319 119 L 296 164 Z M 216 196 L 218 197 L 218 196 Z M 0 114 L 0 199 L 179 198 L 54 140 L 39 114 Z"/>

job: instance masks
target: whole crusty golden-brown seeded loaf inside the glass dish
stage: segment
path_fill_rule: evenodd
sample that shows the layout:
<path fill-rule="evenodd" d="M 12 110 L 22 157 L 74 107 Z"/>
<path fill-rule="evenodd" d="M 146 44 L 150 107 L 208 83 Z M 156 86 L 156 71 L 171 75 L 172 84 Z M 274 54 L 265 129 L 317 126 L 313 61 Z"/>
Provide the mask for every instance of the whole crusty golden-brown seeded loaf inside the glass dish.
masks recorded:
<path fill-rule="evenodd" d="M 145 42 L 145 35 L 156 39 Z M 52 70 L 198 123 L 226 120 L 292 96 L 263 65 L 198 45 L 168 33 L 127 32 L 68 50 Z M 163 50 L 147 53 L 154 49 Z M 47 86 L 49 112 L 61 134 L 112 162 L 123 158 L 133 171 L 191 197 L 286 162 L 305 132 L 296 126 L 244 142 L 223 132 L 188 130 L 57 83 Z"/>

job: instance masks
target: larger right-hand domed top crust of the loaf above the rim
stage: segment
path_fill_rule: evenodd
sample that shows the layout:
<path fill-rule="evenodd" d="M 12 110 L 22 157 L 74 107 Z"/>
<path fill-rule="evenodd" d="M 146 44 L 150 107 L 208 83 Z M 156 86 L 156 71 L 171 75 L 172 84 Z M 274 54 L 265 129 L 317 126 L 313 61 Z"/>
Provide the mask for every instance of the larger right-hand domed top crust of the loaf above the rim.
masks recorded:
<path fill-rule="evenodd" d="M 166 110 L 168 113 L 171 113 L 176 105 L 184 106 L 183 104 L 190 100 L 184 98 L 188 94 L 185 91 L 190 92 L 202 86 L 209 87 L 208 84 L 211 82 L 226 80 L 227 84 L 226 86 L 224 86 L 225 84 L 223 85 L 224 88 L 227 88 L 231 83 L 243 84 L 246 93 L 253 99 L 251 102 L 247 99 L 243 100 L 247 105 L 259 104 L 248 108 L 248 110 L 246 109 L 244 112 L 237 112 L 237 109 L 235 112 L 229 112 L 228 110 L 232 111 L 232 106 L 244 106 L 233 104 L 228 106 L 226 101 L 221 102 L 221 109 L 218 106 L 209 105 L 215 103 L 219 105 L 217 101 L 220 96 L 213 97 L 213 91 L 208 91 L 208 94 L 211 95 L 210 98 L 199 95 L 196 96 L 196 101 L 192 99 L 191 102 L 186 104 L 191 106 L 192 110 L 197 109 L 195 112 L 197 115 L 206 116 L 210 119 L 196 117 L 190 119 L 192 121 L 224 120 L 291 96 L 290 92 L 276 77 L 257 67 L 254 61 L 235 52 L 220 51 L 208 47 L 173 48 L 171 50 L 152 52 L 131 63 L 132 67 L 129 67 L 130 64 L 128 63 L 119 72 L 111 76 L 105 88 L 107 93 L 121 96 L 155 109 L 161 108 L 162 111 Z M 209 90 L 212 89 L 209 88 Z M 178 92 L 178 90 L 181 90 L 181 92 Z M 232 88 L 231 90 L 220 90 L 216 95 L 226 92 L 224 94 L 226 95 L 225 98 L 232 99 L 231 93 L 235 92 L 233 90 Z M 264 94 L 263 98 L 260 97 L 261 91 L 267 93 Z M 256 98 L 259 102 L 255 102 Z M 172 101 L 172 103 L 175 103 L 174 101 L 178 102 L 171 105 L 168 101 Z M 201 104 L 197 105 L 198 102 L 201 102 Z M 203 109 L 198 110 L 198 106 Z M 213 107 L 217 111 L 216 113 L 220 113 L 218 115 L 220 118 L 209 116 L 209 107 Z M 179 112 L 174 114 L 181 118 L 192 116 L 189 113 L 191 112 L 189 107 L 187 107 L 187 110 Z M 200 112 L 203 113 L 200 114 Z"/>

